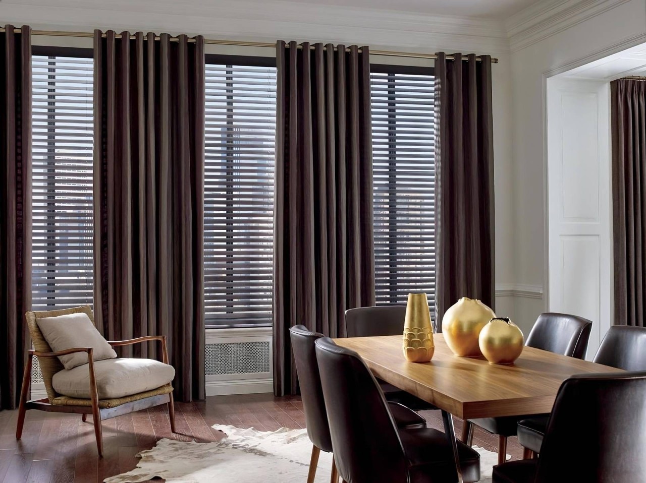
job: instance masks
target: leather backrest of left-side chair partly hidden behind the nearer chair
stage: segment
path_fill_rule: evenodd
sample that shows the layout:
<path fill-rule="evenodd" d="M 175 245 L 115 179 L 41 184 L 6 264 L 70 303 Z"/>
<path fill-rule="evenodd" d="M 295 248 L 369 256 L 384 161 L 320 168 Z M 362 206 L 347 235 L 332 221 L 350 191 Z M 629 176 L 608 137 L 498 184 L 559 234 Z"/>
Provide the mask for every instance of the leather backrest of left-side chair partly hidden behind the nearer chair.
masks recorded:
<path fill-rule="evenodd" d="M 300 397 L 305 412 L 307 436 L 317 447 L 331 453 L 332 441 L 329 437 L 328 413 L 325 410 L 315 350 L 315 342 L 322 336 L 323 334 L 309 331 L 304 325 L 296 325 L 289 329 L 291 351 L 294 355 Z"/>

